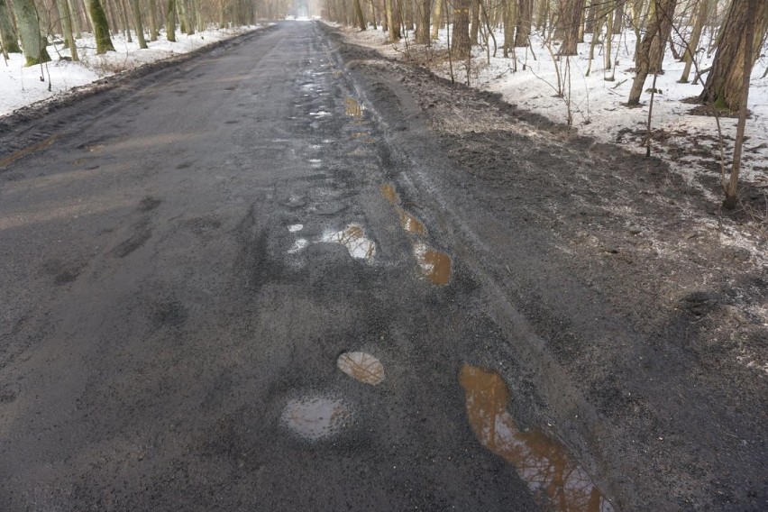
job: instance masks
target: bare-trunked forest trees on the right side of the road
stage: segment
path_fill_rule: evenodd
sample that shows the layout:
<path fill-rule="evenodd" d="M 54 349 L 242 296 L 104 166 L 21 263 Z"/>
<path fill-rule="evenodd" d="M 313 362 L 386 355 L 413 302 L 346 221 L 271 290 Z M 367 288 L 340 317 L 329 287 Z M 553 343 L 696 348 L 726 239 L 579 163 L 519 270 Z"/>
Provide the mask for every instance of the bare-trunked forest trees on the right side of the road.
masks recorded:
<path fill-rule="evenodd" d="M 684 62 L 681 83 L 700 84 L 695 98 L 709 107 L 718 123 L 720 116 L 737 116 L 736 138 L 728 151 L 720 137 L 724 206 L 736 207 L 741 151 L 750 77 L 764 53 L 768 34 L 768 2 L 759 0 L 446 0 L 435 2 L 381 0 L 329 0 L 324 18 L 360 30 L 379 27 L 389 42 L 408 40 L 413 46 L 430 45 L 444 28 L 448 55 L 453 63 L 470 62 L 472 48 L 502 52 L 517 67 L 516 50 L 533 50 L 532 37 L 544 47 L 558 70 L 557 94 L 565 96 L 561 81 L 570 79 L 571 57 L 577 45 L 588 41 L 589 75 L 594 59 L 603 69 L 617 63 L 617 50 L 626 44 L 626 32 L 634 35 L 634 78 L 625 97 L 627 107 L 651 104 L 647 141 L 650 153 L 656 78 L 663 75 L 665 57 Z M 599 50 L 599 55 L 598 55 Z M 710 64 L 703 66 L 706 56 Z M 452 64 L 453 64 L 452 63 Z M 468 66 L 464 66 L 467 69 Z M 763 70 L 763 78 L 768 68 Z M 453 76 L 453 66 L 452 66 Z M 468 74 L 469 76 L 469 74 Z M 760 75 L 758 75 L 759 77 Z M 606 80 L 615 79 L 613 73 Z M 650 86 L 650 87 L 649 87 Z M 646 95 L 647 96 L 647 95 Z M 568 123 L 571 123 L 569 109 Z M 726 162 L 725 153 L 729 159 Z M 732 153 L 732 158 L 731 157 Z"/>

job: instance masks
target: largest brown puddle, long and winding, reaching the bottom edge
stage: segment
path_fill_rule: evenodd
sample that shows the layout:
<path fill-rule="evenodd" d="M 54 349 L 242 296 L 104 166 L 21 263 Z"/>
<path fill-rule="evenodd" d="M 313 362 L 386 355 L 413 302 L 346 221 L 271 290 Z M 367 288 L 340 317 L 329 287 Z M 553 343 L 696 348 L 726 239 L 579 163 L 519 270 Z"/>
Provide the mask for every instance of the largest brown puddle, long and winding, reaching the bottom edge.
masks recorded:
<path fill-rule="evenodd" d="M 613 512 L 590 475 L 572 462 L 565 447 L 542 432 L 521 432 L 507 413 L 509 389 L 495 371 L 464 364 L 459 375 L 467 416 L 475 435 L 491 452 L 517 468 L 535 494 L 558 512 Z"/>

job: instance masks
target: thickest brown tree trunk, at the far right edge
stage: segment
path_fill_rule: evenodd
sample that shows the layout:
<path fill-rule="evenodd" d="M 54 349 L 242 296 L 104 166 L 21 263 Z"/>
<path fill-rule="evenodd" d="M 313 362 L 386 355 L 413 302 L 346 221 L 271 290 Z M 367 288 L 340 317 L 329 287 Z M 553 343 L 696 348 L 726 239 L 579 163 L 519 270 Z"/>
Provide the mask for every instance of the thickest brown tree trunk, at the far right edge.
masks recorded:
<path fill-rule="evenodd" d="M 745 33 L 748 20 L 749 0 L 734 0 L 728 9 L 726 20 L 718 36 L 718 52 L 712 62 L 704 90 L 699 96 L 702 102 L 713 102 L 719 108 L 737 111 L 741 107 L 745 83 Z M 765 32 L 768 30 L 768 2 L 758 2 L 754 10 L 754 36 L 751 61 L 759 57 Z"/>

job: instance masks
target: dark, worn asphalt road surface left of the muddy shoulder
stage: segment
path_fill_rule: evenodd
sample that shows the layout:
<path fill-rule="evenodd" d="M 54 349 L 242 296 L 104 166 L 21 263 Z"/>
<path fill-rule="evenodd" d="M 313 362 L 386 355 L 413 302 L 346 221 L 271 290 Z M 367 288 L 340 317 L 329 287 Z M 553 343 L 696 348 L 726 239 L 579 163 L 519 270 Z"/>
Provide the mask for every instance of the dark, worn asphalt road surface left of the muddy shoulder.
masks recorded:
<path fill-rule="evenodd" d="M 0 510 L 537 509 L 459 382 L 498 328 L 361 87 L 283 23 L 0 169 Z"/>

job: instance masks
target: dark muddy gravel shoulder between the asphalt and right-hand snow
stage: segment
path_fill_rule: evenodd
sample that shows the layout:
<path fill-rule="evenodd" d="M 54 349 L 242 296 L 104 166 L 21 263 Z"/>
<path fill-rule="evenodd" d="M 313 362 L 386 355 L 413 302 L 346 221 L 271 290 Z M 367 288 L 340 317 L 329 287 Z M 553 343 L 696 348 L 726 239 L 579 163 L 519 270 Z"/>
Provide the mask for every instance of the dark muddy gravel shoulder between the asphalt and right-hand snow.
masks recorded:
<path fill-rule="evenodd" d="M 662 160 L 334 37 L 402 151 L 398 187 L 481 285 L 504 340 L 477 362 L 517 416 L 621 509 L 763 509 L 765 226 Z"/>

